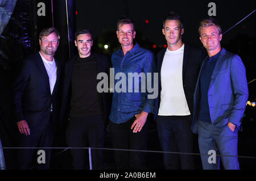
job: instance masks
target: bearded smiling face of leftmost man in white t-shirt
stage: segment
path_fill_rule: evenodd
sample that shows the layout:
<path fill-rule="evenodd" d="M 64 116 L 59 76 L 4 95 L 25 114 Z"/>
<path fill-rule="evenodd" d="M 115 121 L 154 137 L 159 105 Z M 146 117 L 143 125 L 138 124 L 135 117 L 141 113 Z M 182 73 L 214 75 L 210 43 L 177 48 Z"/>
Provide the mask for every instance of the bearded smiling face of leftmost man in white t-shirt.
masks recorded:
<path fill-rule="evenodd" d="M 42 39 L 39 39 L 39 44 L 40 52 L 42 54 L 46 54 L 47 56 L 53 56 L 58 48 L 59 39 L 56 33 L 53 32 L 49 34 L 49 36 L 42 36 Z"/>

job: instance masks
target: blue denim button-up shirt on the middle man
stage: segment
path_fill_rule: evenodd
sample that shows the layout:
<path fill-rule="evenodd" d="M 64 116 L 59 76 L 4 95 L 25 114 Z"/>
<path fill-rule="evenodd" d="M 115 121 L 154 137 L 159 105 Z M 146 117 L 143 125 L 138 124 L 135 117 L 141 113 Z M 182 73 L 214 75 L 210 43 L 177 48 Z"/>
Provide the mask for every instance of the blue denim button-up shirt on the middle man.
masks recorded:
<path fill-rule="evenodd" d="M 133 49 L 123 56 L 122 49 L 118 49 L 112 54 L 112 65 L 114 68 L 114 75 L 117 73 L 123 73 L 126 75 L 126 92 L 113 92 L 113 102 L 109 119 L 113 123 L 125 123 L 130 120 L 136 114 L 142 111 L 153 113 L 155 99 L 148 99 L 148 91 L 141 91 L 141 78 L 139 78 L 139 87 L 137 90 L 133 86 L 128 85 L 128 73 L 151 73 L 151 86 L 153 87 L 153 74 L 156 72 L 156 62 L 154 54 L 147 49 L 139 47 L 139 44 L 135 44 Z M 114 86 L 117 82 L 123 78 L 115 79 Z M 146 76 L 147 79 L 147 76 Z M 129 86 L 129 87 L 128 87 Z M 119 86 L 122 87 L 122 86 Z M 129 90 L 130 89 L 130 90 Z M 133 91 L 131 91 L 131 89 Z M 151 93 L 150 93 L 151 94 Z"/>

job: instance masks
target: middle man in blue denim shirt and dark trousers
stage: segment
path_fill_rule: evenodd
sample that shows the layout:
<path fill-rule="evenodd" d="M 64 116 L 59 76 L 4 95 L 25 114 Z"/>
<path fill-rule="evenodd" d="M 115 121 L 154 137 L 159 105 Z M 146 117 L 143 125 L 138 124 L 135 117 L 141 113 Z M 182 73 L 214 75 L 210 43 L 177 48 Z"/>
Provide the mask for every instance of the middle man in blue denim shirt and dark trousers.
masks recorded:
<path fill-rule="evenodd" d="M 148 113 L 154 112 L 155 99 L 154 96 L 150 99 L 148 92 L 152 83 L 147 83 L 146 79 L 151 76 L 151 82 L 153 82 L 152 74 L 156 68 L 155 58 L 150 50 L 133 43 L 135 34 L 134 23 L 130 19 L 118 20 L 117 37 L 121 49 L 112 55 L 115 90 L 109 117 L 109 129 L 115 149 L 146 150 L 148 133 L 146 120 Z M 131 74 L 137 73 L 141 76 L 141 79 L 137 77 L 139 86 L 135 86 L 135 76 L 134 83 L 129 83 Z M 130 80 L 133 81 L 133 78 Z M 147 85 L 147 90 L 145 85 Z M 129 152 L 115 151 L 117 169 L 146 169 L 146 154 L 139 151 Z"/>

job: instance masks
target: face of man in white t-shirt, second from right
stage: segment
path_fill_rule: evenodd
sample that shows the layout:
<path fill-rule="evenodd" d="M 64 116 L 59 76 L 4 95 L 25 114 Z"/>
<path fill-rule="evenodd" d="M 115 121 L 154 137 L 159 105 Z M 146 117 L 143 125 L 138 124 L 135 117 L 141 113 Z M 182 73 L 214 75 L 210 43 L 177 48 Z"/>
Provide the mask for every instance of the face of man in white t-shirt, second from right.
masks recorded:
<path fill-rule="evenodd" d="M 179 20 L 166 20 L 164 23 L 163 34 L 169 47 L 181 47 L 181 35 L 184 33 L 184 28 L 181 28 Z"/>

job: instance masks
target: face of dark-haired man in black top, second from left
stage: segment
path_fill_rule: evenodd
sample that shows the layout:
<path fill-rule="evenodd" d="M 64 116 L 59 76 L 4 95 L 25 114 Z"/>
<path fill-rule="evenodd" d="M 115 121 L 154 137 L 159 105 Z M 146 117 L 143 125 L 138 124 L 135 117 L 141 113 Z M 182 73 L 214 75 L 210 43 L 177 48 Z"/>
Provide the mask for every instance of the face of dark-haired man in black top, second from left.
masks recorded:
<path fill-rule="evenodd" d="M 92 36 L 90 33 L 80 34 L 75 40 L 75 45 L 79 51 L 80 58 L 89 57 L 93 45 Z"/>

